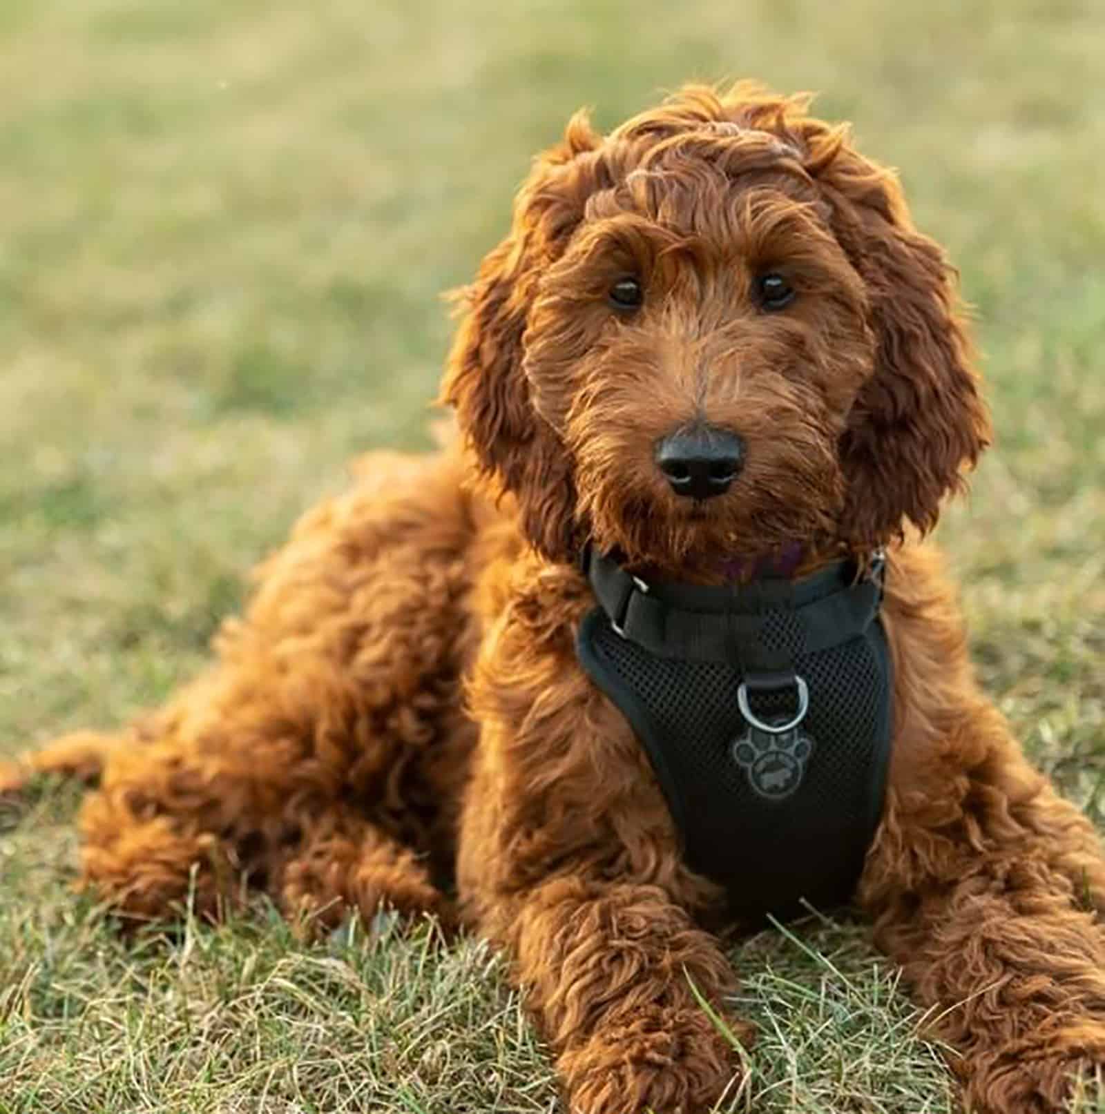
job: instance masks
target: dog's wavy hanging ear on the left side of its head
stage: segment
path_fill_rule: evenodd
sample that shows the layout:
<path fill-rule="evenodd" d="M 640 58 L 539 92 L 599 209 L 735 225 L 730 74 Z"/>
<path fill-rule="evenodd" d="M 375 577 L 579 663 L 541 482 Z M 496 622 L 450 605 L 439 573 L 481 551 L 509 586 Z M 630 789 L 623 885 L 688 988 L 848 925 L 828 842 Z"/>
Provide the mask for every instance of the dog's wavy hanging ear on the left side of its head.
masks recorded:
<path fill-rule="evenodd" d="M 545 268 L 563 253 L 583 217 L 601 138 L 576 114 L 564 138 L 540 155 L 514 203 L 510 236 L 476 281 L 456 294 L 461 323 L 439 401 L 456 409 L 481 468 L 518 500 L 532 545 L 566 560 L 580 539 L 572 466 L 556 431 L 533 407 L 524 371 L 525 330 Z"/>

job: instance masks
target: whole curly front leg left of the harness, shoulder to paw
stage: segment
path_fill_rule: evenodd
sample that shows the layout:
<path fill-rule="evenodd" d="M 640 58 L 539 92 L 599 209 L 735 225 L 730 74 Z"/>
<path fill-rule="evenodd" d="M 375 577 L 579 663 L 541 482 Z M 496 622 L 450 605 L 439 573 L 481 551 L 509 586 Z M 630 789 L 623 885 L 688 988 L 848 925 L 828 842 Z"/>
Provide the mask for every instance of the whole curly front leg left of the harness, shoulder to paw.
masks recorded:
<path fill-rule="evenodd" d="M 720 1014 L 734 984 L 691 916 L 710 888 L 680 864 L 647 760 L 570 636 L 535 634 L 507 625 L 476 671 L 463 908 L 510 956 L 572 1114 L 706 1111 L 738 1082 L 696 1000 Z"/>

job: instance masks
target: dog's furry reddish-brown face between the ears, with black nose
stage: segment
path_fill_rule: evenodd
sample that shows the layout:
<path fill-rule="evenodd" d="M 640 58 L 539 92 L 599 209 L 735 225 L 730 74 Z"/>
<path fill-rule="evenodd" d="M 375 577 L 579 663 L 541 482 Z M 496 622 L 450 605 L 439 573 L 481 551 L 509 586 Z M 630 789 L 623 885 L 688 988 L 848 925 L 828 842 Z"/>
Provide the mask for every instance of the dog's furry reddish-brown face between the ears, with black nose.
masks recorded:
<path fill-rule="evenodd" d="M 794 153 L 705 127 L 592 194 L 522 371 L 603 550 L 726 560 L 831 531 L 874 363 L 864 286 Z"/>

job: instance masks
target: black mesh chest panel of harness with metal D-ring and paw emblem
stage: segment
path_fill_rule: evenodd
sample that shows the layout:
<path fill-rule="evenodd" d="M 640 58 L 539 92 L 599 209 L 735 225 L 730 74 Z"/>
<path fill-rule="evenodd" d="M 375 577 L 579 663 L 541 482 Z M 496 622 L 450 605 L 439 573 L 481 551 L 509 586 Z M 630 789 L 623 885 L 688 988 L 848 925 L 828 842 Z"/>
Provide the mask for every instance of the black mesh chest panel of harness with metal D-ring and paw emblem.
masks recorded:
<path fill-rule="evenodd" d="M 849 899 L 890 753 L 892 678 L 878 618 L 798 654 L 794 680 L 774 686 L 733 664 L 651 653 L 601 608 L 578 648 L 648 753 L 688 863 L 727 888 L 735 912 L 785 916 L 802 899 Z"/>

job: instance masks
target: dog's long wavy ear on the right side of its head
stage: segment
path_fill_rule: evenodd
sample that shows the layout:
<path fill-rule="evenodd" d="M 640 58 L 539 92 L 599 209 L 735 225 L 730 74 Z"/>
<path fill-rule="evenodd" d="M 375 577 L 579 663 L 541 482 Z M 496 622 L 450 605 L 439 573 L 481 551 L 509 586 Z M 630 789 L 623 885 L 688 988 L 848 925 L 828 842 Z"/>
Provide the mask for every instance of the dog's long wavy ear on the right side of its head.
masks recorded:
<path fill-rule="evenodd" d="M 913 227 L 895 176 L 852 150 L 843 130 L 806 138 L 836 238 L 866 285 L 878 344 L 841 441 L 842 535 L 880 545 L 907 520 L 921 531 L 936 525 L 943 497 L 989 444 L 989 418 L 956 274 Z"/>

